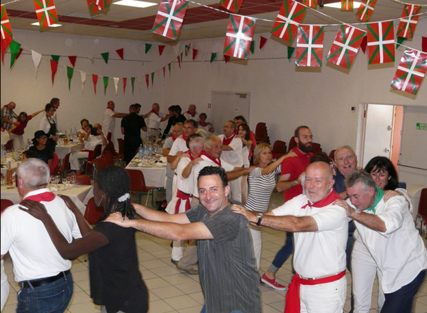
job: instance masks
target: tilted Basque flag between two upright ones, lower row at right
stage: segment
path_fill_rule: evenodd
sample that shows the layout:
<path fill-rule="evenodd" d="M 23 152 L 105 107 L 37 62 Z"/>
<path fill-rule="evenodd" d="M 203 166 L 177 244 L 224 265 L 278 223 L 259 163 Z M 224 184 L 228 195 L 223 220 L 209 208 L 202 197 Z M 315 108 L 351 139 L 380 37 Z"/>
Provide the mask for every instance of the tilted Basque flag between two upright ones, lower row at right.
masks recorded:
<path fill-rule="evenodd" d="M 349 69 L 366 32 L 349 25 L 341 25 L 326 58 L 328 62 Z"/>

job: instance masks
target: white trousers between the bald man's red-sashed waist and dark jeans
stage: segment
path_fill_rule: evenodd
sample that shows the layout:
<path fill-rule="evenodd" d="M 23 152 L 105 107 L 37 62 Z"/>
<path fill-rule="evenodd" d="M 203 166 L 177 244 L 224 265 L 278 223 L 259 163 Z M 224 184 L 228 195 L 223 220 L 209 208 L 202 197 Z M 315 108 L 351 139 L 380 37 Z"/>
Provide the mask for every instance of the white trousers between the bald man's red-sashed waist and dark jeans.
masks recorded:
<path fill-rule="evenodd" d="M 375 274 L 378 274 L 378 308 L 384 304 L 385 297 L 381 288 L 381 272 L 365 245 L 356 240 L 351 255 L 351 276 L 353 280 L 354 313 L 369 313 L 371 309 L 372 287 Z"/>

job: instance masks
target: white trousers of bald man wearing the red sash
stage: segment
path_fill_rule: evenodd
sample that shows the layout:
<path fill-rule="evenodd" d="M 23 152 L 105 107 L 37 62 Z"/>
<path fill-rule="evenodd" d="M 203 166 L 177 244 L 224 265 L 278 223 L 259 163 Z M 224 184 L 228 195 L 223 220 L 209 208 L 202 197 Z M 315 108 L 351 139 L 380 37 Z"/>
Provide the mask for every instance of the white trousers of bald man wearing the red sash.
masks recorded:
<path fill-rule="evenodd" d="M 301 313 L 343 313 L 346 302 L 346 276 L 318 285 L 301 285 Z"/>

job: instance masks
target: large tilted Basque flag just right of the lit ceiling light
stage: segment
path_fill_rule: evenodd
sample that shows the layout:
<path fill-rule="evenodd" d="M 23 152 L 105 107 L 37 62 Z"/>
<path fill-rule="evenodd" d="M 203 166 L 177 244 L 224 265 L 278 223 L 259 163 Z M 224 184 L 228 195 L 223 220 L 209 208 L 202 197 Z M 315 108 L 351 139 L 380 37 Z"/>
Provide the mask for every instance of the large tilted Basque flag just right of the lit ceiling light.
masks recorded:
<path fill-rule="evenodd" d="M 177 40 L 187 6 L 187 0 L 161 0 L 153 33 Z"/>

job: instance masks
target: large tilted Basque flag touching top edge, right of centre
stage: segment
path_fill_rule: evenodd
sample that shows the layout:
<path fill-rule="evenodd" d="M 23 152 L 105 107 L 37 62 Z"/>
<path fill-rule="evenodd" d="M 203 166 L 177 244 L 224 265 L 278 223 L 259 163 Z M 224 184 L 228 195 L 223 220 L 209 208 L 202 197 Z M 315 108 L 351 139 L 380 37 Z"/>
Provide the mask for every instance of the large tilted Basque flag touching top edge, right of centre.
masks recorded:
<path fill-rule="evenodd" d="M 306 10 L 306 7 L 293 0 L 285 0 L 270 33 L 291 42 Z"/>

